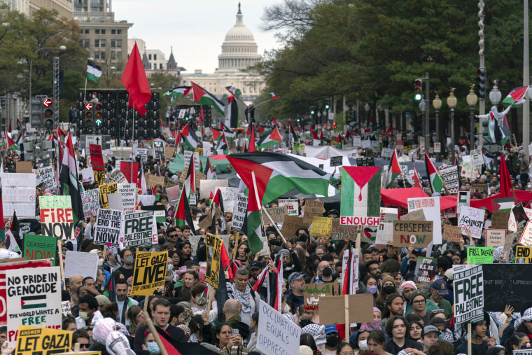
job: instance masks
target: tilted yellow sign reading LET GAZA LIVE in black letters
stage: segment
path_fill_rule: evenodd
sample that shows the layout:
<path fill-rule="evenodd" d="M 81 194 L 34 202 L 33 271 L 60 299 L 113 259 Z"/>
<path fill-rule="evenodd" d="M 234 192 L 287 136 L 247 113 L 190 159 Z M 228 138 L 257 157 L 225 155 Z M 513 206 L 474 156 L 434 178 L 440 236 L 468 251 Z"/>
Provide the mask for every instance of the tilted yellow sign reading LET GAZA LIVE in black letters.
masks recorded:
<path fill-rule="evenodd" d="M 138 251 L 131 294 L 149 296 L 164 291 L 167 266 L 167 251 Z"/>

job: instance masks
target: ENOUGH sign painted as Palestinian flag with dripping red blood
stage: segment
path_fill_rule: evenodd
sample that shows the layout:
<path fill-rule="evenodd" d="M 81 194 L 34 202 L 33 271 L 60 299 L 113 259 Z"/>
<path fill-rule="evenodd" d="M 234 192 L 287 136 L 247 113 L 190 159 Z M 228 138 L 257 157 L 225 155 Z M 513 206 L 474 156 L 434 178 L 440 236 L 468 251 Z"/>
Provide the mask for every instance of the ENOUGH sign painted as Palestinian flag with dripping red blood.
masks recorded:
<path fill-rule="evenodd" d="M 340 224 L 379 225 L 380 167 L 342 167 Z"/>

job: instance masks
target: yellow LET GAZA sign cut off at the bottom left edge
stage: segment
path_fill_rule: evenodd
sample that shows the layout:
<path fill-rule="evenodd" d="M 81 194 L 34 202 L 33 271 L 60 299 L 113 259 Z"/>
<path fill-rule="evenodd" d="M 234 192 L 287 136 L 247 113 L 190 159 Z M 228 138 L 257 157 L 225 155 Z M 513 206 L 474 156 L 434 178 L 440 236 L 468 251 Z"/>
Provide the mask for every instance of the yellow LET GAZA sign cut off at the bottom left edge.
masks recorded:
<path fill-rule="evenodd" d="M 45 355 L 71 351 L 71 330 L 19 326 L 15 355 Z"/>

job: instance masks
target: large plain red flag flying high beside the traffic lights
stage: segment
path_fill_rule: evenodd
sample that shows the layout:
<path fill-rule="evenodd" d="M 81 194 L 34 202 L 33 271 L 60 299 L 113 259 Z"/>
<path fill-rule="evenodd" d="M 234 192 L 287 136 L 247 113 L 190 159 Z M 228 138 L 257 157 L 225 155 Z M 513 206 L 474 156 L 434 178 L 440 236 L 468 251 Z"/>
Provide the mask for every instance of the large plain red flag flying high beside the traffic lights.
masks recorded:
<path fill-rule="evenodd" d="M 120 81 L 122 81 L 130 94 L 130 107 L 134 107 L 141 116 L 144 116 L 147 111 L 144 105 L 151 99 L 151 90 L 148 78 L 146 78 L 146 71 L 144 71 L 144 66 L 142 65 L 137 42 L 133 46 L 130 59 L 127 60 Z"/>

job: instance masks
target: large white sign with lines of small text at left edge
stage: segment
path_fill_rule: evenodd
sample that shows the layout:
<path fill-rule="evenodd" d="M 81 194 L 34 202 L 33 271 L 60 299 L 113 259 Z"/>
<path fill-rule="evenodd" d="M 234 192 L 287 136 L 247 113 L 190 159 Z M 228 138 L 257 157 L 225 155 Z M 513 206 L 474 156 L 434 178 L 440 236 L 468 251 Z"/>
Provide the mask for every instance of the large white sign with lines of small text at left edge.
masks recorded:
<path fill-rule="evenodd" d="M 35 218 L 36 175 L 0 173 L 3 217 Z"/>

